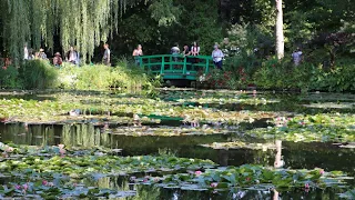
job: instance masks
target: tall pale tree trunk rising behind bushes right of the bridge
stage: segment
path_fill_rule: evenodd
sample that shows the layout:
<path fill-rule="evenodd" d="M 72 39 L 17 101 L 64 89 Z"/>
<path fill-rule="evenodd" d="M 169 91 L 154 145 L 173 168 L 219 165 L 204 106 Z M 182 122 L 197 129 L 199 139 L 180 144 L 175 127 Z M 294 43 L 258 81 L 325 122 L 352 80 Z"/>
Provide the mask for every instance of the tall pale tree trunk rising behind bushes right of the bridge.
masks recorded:
<path fill-rule="evenodd" d="M 285 41 L 284 41 L 284 22 L 282 11 L 282 0 L 276 1 L 276 54 L 277 59 L 284 58 Z"/>

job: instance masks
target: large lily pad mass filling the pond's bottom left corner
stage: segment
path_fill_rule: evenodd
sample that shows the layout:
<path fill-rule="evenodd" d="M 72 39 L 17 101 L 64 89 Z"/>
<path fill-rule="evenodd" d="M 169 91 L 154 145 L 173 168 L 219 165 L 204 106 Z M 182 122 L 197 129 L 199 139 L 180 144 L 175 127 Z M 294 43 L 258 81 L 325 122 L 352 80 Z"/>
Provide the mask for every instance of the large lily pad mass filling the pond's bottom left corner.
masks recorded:
<path fill-rule="evenodd" d="M 9 177 L 21 174 L 18 179 L 0 186 L 2 198 L 31 196 L 36 199 L 41 197 L 44 199 L 62 197 L 97 199 L 134 196 L 135 192 L 131 191 L 118 192 L 118 188 L 102 188 L 109 186 L 100 186 L 100 183 L 98 186 L 98 182 L 113 174 L 146 171 L 174 172 L 187 169 L 209 169 L 216 166 L 210 160 L 174 156 L 118 157 L 112 150 L 102 148 L 75 151 L 65 149 L 64 144 L 38 148 L 0 142 L 0 152 L 11 158 L 11 160 L 0 161 L 1 173 Z M 88 179 L 94 181 L 95 184 L 89 187 Z M 135 178 L 132 177 L 130 181 L 134 180 Z M 78 182 L 84 183 L 79 186 Z"/>

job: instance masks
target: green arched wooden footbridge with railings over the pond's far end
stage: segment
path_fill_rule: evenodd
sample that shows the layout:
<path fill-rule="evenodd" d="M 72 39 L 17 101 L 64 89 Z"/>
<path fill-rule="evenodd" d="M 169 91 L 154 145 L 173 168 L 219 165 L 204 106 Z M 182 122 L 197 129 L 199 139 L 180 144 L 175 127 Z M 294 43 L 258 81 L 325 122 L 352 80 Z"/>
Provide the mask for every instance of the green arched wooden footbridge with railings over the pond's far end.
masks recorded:
<path fill-rule="evenodd" d="M 140 57 L 140 66 L 165 80 L 196 80 L 199 73 L 207 73 L 214 68 L 211 56 L 184 57 L 181 54 L 156 54 Z"/>

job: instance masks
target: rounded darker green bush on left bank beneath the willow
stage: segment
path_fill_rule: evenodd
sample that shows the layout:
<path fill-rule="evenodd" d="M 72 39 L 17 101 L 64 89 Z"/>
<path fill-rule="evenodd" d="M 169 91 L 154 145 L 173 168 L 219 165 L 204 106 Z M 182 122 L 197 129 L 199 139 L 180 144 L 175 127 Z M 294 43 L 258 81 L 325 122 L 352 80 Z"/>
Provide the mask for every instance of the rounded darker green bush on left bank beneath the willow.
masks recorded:
<path fill-rule="evenodd" d="M 58 71 L 48 61 L 30 60 L 20 67 L 19 78 L 26 89 L 53 88 Z"/>

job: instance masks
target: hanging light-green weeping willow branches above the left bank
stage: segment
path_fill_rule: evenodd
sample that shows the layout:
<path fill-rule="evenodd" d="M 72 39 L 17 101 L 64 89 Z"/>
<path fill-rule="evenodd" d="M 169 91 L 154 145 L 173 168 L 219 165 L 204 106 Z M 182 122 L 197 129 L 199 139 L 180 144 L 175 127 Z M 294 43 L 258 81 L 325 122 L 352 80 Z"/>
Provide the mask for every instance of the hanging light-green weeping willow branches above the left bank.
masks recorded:
<path fill-rule="evenodd" d="M 23 46 L 53 49 L 53 36 L 63 50 L 75 46 L 90 60 L 94 47 L 118 30 L 128 7 L 148 0 L 0 0 L 3 46 L 16 63 Z"/>

